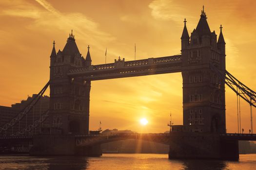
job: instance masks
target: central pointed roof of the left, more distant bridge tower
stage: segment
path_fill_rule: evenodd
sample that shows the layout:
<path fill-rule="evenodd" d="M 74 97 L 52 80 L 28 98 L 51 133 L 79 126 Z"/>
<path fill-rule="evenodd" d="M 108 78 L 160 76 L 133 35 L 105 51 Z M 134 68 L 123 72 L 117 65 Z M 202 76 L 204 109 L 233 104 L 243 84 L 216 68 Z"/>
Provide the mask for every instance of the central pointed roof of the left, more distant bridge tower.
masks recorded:
<path fill-rule="evenodd" d="M 67 43 L 66 43 L 62 53 L 64 55 L 71 55 L 71 56 L 73 56 L 77 53 L 80 54 L 80 52 L 78 50 L 78 46 L 76 44 L 75 35 L 73 35 L 73 30 L 72 30 L 71 34 L 69 34 Z"/>

